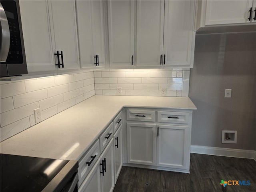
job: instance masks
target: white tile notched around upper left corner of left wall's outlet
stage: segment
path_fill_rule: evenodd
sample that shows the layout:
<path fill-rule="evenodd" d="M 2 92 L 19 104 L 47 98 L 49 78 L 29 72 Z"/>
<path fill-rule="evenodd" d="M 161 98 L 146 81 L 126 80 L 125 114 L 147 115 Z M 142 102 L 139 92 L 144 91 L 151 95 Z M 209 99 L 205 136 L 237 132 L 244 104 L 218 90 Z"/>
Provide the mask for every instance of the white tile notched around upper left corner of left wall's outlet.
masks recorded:
<path fill-rule="evenodd" d="M 25 105 L 7 112 L 1 113 L 1 127 L 34 114 L 34 109 L 39 108 L 38 102 Z"/>

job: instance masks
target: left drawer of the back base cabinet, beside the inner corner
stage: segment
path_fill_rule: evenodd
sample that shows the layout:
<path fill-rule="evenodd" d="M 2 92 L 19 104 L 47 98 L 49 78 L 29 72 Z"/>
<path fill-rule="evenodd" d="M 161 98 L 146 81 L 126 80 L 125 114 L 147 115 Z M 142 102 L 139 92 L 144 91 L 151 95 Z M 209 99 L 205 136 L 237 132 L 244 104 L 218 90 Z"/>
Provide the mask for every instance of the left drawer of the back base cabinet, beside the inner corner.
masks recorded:
<path fill-rule="evenodd" d="M 126 120 L 155 122 L 155 111 L 128 109 Z"/>

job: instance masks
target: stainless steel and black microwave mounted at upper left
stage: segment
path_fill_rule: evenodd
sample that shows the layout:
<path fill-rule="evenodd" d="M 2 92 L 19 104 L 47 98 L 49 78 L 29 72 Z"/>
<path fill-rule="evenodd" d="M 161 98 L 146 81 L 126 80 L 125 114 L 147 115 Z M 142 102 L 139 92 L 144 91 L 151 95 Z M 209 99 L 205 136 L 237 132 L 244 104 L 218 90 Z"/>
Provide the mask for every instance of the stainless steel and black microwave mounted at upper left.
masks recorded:
<path fill-rule="evenodd" d="M 1 0 L 1 78 L 28 74 L 18 0 Z"/>

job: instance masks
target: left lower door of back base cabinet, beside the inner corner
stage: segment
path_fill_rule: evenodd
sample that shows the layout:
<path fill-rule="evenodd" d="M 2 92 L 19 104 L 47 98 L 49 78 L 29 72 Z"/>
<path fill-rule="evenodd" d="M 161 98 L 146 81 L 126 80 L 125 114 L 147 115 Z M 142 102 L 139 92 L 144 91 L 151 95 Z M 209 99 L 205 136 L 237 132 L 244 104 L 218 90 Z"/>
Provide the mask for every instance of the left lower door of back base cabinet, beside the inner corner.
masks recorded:
<path fill-rule="evenodd" d="M 156 124 L 127 123 L 128 163 L 156 165 Z"/>

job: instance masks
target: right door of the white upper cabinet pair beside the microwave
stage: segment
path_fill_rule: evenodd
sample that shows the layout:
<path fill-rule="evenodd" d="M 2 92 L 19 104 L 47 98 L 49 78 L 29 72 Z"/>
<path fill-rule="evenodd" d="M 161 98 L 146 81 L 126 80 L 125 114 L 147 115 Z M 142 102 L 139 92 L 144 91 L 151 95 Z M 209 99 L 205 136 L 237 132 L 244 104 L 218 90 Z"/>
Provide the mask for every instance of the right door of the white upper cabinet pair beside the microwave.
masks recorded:
<path fill-rule="evenodd" d="M 72 0 L 48 1 L 52 39 L 56 51 L 63 51 L 64 68 L 80 68 L 76 29 L 75 2 Z M 61 60 L 61 59 L 60 59 Z M 57 64 L 57 56 L 55 56 Z"/>

